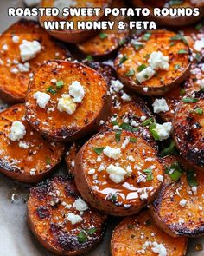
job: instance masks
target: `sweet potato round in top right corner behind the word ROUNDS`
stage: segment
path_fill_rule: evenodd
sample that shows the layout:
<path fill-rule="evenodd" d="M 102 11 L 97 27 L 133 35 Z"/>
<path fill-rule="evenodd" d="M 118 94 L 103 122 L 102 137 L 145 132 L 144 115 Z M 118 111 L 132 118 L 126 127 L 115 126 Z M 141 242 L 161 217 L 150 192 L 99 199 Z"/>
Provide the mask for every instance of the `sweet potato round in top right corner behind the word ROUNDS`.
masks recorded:
<path fill-rule="evenodd" d="M 134 6 L 137 7 L 147 7 L 150 9 L 150 16 L 145 18 L 149 19 L 150 21 L 155 21 L 157 24 L 161 26 L 187 26 L 193 23 L 198 22 L 204 16 L 204 8 L 203 2 L 198 1 L 191 1 L 191 0 L 183 0 L 183 1 L 166 1 L 166 0 L 131 0 Z M 200 15 L 198 16 L 155 16 L 154 15 L 154 8 L 187 8 L 190 7 L 193 9 L 194 7 L 200 8 Z"/>

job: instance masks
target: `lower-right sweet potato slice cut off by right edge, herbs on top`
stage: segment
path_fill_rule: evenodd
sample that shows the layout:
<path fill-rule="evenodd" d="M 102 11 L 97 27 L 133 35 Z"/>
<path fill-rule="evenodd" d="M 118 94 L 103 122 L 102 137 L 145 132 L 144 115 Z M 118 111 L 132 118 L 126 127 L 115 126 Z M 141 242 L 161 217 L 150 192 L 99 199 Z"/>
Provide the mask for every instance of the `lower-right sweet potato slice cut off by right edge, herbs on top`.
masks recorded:
<path fill-rule="evenodd" d="M 171 236 L 203 235 L 204 173 L 186 169 L 175 156 L 166 157 L 162 162 L 168 174 L 150 207 L 152 217 Z"/>

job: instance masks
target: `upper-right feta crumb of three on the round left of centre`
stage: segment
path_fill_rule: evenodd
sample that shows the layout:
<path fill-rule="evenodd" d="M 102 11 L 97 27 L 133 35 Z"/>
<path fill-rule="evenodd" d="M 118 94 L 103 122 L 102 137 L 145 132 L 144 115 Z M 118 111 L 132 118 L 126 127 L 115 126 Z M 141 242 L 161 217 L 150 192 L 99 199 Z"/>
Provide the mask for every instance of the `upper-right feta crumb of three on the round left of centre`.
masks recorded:
<path fill-rule="evenodd" d="M 84 87 L 78 81 L 73 81 L 72 84 L 69 86 L 69 95 L 73 97 L 73 102 L 81 103 L 84 96 L 85 91 Z"/>

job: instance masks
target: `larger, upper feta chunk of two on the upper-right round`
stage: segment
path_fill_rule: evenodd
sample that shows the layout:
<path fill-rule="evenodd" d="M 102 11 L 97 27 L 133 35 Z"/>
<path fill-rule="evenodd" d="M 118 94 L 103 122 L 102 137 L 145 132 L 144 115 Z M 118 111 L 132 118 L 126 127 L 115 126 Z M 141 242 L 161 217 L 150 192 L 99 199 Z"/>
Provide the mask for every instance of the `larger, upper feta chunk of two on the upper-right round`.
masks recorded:
<path fill-rule="evenodd" d="M 169 56 L 164 56 L 161 51 L 153 51 L 148 62 L 154 70 L 169 70 Z"/>

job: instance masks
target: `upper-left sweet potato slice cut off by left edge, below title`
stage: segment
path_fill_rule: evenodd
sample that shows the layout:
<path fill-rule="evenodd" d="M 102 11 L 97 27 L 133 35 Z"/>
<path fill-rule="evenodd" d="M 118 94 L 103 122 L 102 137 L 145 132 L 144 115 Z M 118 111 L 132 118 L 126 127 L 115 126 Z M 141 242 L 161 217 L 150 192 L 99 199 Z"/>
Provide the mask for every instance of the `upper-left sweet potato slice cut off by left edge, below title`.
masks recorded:
<path fill-rule="evenodd" d="M 20 54 L 23 40 L 41 43 L 41 51 L 25 62 Z M 55 58 L 65 59 L 68 54 L 38 23 L 29 20 L 20 20 L 6 30 L 0 36 L 0 49 L 0 96 L 12 103 L 25 101 L 29 80 L 41 63 Z"/>

